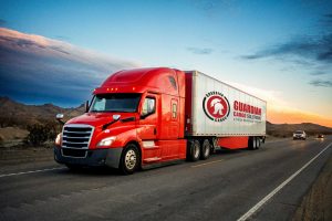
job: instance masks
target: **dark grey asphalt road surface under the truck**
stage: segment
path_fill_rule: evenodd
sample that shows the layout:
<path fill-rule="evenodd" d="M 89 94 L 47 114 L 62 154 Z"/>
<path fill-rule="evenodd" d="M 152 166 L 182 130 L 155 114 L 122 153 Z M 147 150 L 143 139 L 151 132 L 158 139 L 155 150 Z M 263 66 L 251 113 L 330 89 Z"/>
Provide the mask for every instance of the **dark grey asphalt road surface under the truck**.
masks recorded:
<path fill-rule="evenodd" d="M 249 220 L 290 220 L 332 156 L 331 143 L 272 141 L 133 176 L 74 172 L 53 161 L 11 167 L 0 170 L 0 220 L 238 220 L 248 211 Z"/>

